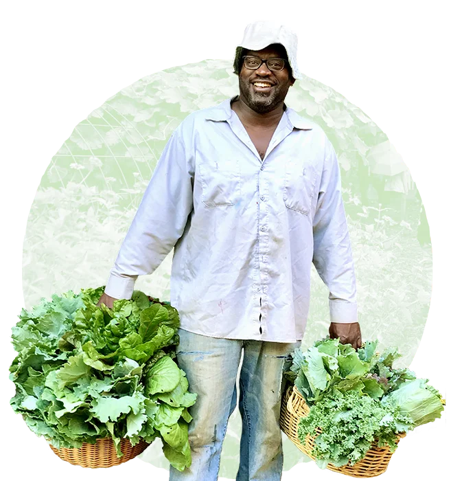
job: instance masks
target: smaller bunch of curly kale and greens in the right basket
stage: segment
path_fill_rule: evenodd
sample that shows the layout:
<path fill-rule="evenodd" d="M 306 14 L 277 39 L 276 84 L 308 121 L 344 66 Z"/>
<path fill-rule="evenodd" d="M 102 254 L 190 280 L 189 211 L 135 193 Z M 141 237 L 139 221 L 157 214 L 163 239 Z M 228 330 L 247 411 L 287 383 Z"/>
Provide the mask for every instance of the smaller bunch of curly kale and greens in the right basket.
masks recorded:
<path fill-rule="evenodd" d="M 286 365 L 286 378 L 310 406 L 298 436 L 301 443 L 316 436 L 312 454 L 320 469 L 355 464 L 374 441 L 395 451 L 398 433 L 443 414 L 440 392 L 413 370 L 392 368 L 401 356 L 396 348 L 379 354 L 376 346 L 377 341 L 366 342 L 354 350 L 338 339 L 324 339 L 305 352 L 295 350 Z"/>

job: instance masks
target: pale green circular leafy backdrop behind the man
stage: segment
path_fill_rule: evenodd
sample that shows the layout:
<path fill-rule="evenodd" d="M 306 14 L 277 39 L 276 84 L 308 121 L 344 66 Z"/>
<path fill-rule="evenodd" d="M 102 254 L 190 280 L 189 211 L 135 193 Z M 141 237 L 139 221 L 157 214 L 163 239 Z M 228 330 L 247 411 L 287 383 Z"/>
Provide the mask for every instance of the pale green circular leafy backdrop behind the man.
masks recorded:
<path fill-rule="evenodd" d="M 167 68 L 123 87 L 73 126 L 43 172 L 30 208 L 23 234 L 24 307 L 53 293 L 106 283 L 174 128 L 192 111 L 235 96 L 237 83 L 231 60 Z M 408 192 L 395 193 L 384 186 L 397 185 L 397 177 L 370 174 L 407 167 L 401 169 L 388 133 L 332 87 L 307 76 L 297 80 L 286 103 L 319 124 L 338 155 L 362 337 L 378 339 L 380 349 L 397 344 L 403 354 L 397 364 L 410 367 L 428 328 L 434 264 L 415 183 Z M 152 276 L 139 278 L 136 289 L 170 300 L 171 259 L 172 252 Z M 327 335 L 327 295 L 313 267 L 304 348 Z M 240 432 L 236 410 L 224 440 L 222 478 L 236 475 Z M 283 471 L 301 463 L 316 467 L 286 436 L 283 451 Z M 139 460 L 169 468 L 159 440 Z"/>

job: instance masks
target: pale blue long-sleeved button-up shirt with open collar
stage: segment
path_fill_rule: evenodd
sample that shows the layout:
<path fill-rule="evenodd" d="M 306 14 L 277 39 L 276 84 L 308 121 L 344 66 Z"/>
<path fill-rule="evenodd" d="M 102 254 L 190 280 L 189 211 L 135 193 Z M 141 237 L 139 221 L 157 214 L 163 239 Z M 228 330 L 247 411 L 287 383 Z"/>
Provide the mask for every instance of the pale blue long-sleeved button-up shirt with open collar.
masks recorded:
<path fill-rule="evenodd" d="M 264 159 L 231 100 L 191 113 L 156 165 L 106 285 L 130 298 L 174 247 L 181 328 L 228 339 L 302 339 L 314 265 L 332 322 L 357 322 L 340 169 L 323 130 L 286 107 Z"/>

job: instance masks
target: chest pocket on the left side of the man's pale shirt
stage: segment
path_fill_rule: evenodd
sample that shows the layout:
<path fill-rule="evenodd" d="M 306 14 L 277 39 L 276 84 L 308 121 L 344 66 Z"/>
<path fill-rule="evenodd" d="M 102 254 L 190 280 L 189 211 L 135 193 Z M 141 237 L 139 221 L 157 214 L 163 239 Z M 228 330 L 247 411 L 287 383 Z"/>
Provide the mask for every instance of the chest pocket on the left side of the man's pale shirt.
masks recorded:
<path fill-rule="evenodd" d="M 199 165 L 202 203 L 207 207 L 235 205 L 240 199 L 239 160 L 218 159 Z"/>

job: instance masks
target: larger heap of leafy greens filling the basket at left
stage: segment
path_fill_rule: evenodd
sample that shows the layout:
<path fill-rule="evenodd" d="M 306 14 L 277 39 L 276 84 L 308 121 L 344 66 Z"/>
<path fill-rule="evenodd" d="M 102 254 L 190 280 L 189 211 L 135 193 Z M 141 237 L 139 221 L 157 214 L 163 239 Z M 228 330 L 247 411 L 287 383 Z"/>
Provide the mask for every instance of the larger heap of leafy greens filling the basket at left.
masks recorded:
<path fill-rule="evenodd" d="M 134 291 L 113 309 L 96 306 L 104 287 L 53 295 L 12 327 L 10 405 L 56 448 L 111 437 L 163 442 L 170 463 L 191 463 L 185 372 L 173 360 L 179 316 L 167 302 Z"/>

